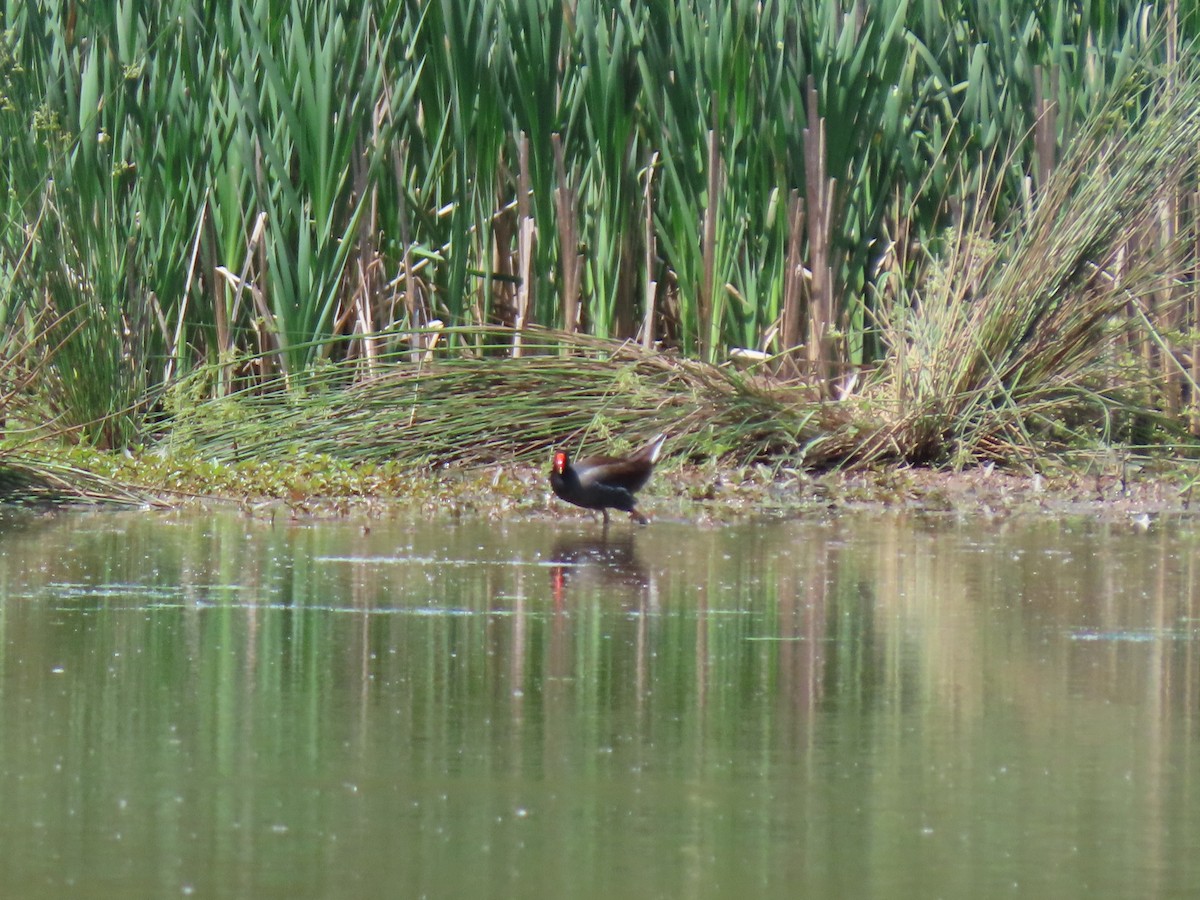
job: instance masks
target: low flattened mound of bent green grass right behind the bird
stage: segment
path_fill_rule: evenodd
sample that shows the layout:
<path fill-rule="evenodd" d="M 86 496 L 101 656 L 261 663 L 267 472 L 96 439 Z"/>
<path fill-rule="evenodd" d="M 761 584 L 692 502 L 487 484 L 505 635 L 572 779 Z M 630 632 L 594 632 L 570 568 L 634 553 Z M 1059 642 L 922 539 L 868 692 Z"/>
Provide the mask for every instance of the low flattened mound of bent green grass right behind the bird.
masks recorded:
<path fill-rule="evenodd" d="M 496 348 L 512 340 L 494 329 L 458 337 Z M 365 380 L 334 365 L 292 390 L 202 402 L 173 422 L 168 448 L 224 461 L 314 452 L 433 467 L 540 461 L 559 445 L 622 451 L 666 431 L 676 458 L 749 461 L 796 454 L 841 415 L 797 402 L 800 389 L 629 342 L 545 330 L 523 338 L 517 360 L 451 349 L 380 364 Z"/>

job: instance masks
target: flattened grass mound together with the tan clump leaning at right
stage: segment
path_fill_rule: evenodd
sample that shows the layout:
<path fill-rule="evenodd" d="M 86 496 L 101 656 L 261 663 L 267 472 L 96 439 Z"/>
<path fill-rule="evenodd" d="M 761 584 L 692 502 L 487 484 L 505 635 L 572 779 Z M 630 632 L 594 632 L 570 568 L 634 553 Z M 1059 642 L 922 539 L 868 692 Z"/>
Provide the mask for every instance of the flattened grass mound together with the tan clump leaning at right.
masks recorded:
<path fill-rule="evenodd" d="M 1172 84 L 1130 126 L 1120 108 L 1148 88 L 1130 83 L 1004 230 L 980 206 L 940 239 L 918 281 L 898 277 L 878 318 L 889 356 L 838 402 L 772 377 L 769 360 L 756 374 L 539 329 L 508 359 L 508 330 L 444 329 L 436 349 L 365 378 L 342 362 L 202 402 L 170 440 L 215 460 L 317 452 L 409 466 L 536 460 L 557 445 L 622 451 L 659 431 L 676 458 L 734 464 L 1031 463 L 1048 448 L 1133 443 L 1148 419 L 1171 420 L 1135 402 L 1154 372 L 1130 348 L 1153 337 L 1169 353 L 1150 312 L 1178 311 L 1151 305 L 1193 265 L 1194 232 L 1157 228 L 1164 185 L 1200 145 L 1200 70 Z M 1184 425 L 1175 419 L 1175 438 Z"/>

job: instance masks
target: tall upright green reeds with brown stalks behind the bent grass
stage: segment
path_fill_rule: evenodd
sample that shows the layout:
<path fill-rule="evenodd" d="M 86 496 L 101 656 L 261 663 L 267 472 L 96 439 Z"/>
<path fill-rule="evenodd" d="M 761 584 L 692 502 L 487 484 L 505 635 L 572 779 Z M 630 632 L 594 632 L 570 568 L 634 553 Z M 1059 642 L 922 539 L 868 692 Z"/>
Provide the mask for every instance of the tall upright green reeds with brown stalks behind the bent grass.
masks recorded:
<path fill-rule="evenodd" d="M 895 352 L 880 322 L 948 233 L 1032 215 L 1085 122 L 1138 121 L 1156 85 L 1114 91 L 1196 31 L 1132 0 L 0 16 L 0 325 L 61 317 L 42 415 L 114 446 L 193 371 L 214 395 L 370 376 L 434 319 L 493 355 L 470 326 L 760 349 L 829 396 Z"/>

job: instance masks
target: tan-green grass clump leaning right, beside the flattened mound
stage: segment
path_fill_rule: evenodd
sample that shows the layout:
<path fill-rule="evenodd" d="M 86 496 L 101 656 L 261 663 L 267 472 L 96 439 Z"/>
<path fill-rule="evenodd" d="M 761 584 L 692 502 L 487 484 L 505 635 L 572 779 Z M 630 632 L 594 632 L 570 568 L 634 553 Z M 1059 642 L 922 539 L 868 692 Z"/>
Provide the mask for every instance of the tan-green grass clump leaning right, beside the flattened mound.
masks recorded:
<path fill-rule="evenodd" d="M 892 416 L 862 455 L 1025 458 L 1072 438 L 1128 439 L 1118 424 L 1139 406 L 1152 414 L 1145 398 L 1160 376 L 1130 365 L 1129 348 L 1154 337 L 1170 356 L 1147 311 L 1171 322 L 1187 312 L 1177 287 L 1189 282 L 1195 230 L 1159 224 L 1200 142 L 1200 68 L 1177 70 L 1127 126 L 1118 109 L 1148 88 L 1130 82 L 1114 97 L 1004 235 L 989 239 L 983 216 L 947 236 L 936 270 L 883 318 L 893 355 L 869 396 Z M 1072 422 L 1082 430 L 1072 434 Z M 1174 422 L 1176 437 L 1184 427 Z"/>

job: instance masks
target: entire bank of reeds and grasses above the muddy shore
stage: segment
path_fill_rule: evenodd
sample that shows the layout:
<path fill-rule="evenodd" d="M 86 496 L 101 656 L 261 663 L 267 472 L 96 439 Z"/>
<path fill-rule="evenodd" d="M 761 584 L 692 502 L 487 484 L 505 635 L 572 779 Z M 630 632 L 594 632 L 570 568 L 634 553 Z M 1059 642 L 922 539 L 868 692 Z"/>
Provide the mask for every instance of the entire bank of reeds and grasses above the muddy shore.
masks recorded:
<path fill-rule="evenodd" d="M 1177 0 L 4 0 L 6 424 L 431 463 L 1200 433 L 1198 31 Z"/>

